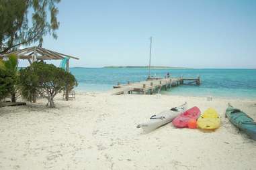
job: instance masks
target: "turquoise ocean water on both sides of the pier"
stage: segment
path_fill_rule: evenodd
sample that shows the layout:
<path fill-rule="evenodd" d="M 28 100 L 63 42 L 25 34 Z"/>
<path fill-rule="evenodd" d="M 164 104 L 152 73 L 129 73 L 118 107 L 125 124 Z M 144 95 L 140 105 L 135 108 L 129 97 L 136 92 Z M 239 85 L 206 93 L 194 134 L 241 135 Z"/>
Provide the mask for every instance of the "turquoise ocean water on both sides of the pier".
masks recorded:
<path fill-rule="evenodd" d="M 79 82 L 80 91 L 106 91 L 118 82 L 121 84 L 145 80 L 148 70 L 144 68 L 71 68 Z M 168 69 L 151 70 L 152 76 L 164 77 L 200 76 L 200 86 L 177 86 L 161 94 L 179 96 L 218 96 L 223 98 L 256 99 L 256 70 L 253 69 Z"/>

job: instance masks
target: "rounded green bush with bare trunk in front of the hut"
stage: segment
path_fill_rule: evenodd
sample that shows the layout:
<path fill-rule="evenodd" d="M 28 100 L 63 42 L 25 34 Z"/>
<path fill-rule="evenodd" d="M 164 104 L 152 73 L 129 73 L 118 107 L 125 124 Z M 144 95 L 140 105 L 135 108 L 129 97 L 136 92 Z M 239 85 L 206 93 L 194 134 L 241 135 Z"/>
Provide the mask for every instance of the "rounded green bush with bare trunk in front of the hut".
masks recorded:
<path fill-rule="evenodd" d="M 40 95 L 48 99 L 50 107 L 54 107 L 53 98 L 56 94 L 66 90 L 66 87 L 72 90 L 77 86 L 77 80 L 71 73 L 53 64 L 34 62 L 28 68 L 20 70 L 19 84 L 22 96 L 30 102 L 35 102 L 36 96 Z"/>

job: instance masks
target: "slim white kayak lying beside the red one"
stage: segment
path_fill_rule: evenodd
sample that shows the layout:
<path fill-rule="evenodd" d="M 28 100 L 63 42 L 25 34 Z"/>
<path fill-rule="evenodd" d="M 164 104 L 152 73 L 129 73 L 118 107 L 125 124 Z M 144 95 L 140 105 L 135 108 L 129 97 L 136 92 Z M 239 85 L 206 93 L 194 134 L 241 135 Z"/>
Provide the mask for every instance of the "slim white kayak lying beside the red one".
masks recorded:
<path fill-rule="evenodd" d="M 138 124 L 137 128 L 142 128 L 145 132 L 151 132 L 160 126 L 163 126 L 173 120 L 177 115 L 185 112 L 187 109 L 187 102 L 181 106 L 171 108 L 151 116 L 150 120 L 146 123 Z"/>

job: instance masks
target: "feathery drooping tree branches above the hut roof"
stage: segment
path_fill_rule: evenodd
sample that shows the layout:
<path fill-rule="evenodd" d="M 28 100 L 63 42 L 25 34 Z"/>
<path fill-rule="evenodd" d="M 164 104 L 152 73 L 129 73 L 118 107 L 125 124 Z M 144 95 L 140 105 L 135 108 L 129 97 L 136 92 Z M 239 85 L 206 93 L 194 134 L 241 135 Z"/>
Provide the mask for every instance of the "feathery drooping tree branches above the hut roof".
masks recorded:
<path fill-rule="evenodd" d="M 57 38 L 60 0 L 0 0 L 0 54 L 20 45 L 39 42 L 44 35 Z"/>

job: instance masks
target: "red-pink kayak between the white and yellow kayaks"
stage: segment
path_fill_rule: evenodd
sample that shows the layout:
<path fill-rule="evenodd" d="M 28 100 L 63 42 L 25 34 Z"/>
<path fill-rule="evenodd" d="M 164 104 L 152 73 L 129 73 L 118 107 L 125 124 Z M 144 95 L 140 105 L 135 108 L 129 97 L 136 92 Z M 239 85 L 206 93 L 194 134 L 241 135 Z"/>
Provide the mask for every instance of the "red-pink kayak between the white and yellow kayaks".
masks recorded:
<path fill-rule="evenodd" d="M 179 116 L 173 119 L 173 125 L 177 128 L 187 127 L 187 123 L 190 119 L 197 120 L 200 116 L 201 111 L 197 106 L 189 108 L 189 110 L 179 114 Z"/>

